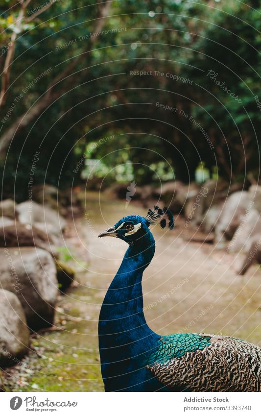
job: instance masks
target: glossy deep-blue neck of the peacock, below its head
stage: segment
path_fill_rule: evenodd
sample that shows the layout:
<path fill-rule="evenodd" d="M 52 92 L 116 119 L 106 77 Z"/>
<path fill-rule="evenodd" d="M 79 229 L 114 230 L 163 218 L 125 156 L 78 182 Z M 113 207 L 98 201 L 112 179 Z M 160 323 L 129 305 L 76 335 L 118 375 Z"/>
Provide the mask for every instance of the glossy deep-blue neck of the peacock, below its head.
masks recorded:
<path fill-rule="evenodd" d="M 148 327 L 143 314 L 142 273 L 154 252 L 155 241 L 150 232 L 129 246 L 104 298 L 99 317 L 103 379 L 119 379 L 122 369 L 126 373 L 140 368 L 146 353 L 160 338 Z"/>

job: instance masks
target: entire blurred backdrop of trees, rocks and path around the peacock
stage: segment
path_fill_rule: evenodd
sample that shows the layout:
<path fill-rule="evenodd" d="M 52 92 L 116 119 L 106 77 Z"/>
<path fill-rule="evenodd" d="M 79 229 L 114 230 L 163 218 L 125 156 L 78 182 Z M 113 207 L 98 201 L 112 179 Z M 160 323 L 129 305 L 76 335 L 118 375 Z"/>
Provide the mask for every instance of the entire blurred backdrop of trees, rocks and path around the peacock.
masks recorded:
<path fill-rule="evenodd" d="M 260 345 L 261 1 L 0 0 L 0 32 L 0 390 L 103 391 L 97 236 L 155 204 L 150 327 Z"/>

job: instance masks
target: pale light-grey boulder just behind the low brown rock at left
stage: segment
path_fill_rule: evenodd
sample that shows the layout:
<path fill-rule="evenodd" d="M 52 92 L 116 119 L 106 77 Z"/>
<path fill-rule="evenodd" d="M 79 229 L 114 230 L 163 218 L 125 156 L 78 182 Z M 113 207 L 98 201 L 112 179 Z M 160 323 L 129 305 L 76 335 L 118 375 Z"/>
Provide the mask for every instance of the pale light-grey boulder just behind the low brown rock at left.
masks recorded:
<path fill-rule="evenodd" d="M 34 225 L 48 235 L 61 237 L 66 222 L 53 209 L 34 201 L 25 201 L 16 206 L 16 211 L 21 224 Z"/>

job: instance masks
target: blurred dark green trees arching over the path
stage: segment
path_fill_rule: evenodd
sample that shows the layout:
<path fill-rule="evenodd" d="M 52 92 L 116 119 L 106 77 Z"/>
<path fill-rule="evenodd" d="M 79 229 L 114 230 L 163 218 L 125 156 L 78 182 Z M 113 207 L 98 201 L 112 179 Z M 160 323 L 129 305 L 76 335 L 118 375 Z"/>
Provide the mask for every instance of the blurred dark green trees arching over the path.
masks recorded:
<path fill-rule="evenodd" d="M 260 1 L 1 0 L 0 13 L 3 197 L 15 181 L 27 196 L 35 151 L 34 185 L 258 179 Z"/>

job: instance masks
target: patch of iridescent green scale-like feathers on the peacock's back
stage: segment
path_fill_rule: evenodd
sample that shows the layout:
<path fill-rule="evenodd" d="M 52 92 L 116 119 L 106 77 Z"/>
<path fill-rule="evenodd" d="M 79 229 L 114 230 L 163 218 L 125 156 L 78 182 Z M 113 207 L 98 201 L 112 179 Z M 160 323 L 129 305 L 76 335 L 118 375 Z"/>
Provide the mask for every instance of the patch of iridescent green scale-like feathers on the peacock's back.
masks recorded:
<path fill-rule="evenodd" d="M 176 357 L 183 356 L 186 352 L 204 349 L 210 345 L 210 337 L 199 334 L 174 334 L 163 336 L 158 347 L 153 351 L 147 365 L 157 363 L 165 363 Z"/>

